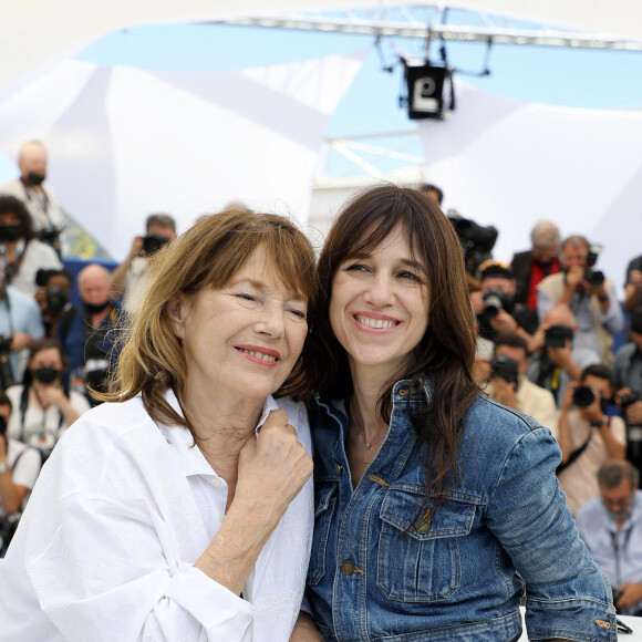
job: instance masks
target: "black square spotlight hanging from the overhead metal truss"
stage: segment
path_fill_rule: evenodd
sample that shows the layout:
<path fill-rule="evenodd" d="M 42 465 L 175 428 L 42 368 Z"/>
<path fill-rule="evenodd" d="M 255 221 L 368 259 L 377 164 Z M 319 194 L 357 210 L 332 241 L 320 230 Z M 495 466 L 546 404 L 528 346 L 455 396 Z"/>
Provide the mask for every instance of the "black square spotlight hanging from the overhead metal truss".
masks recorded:
<path fill-rule="evenodd" d="M 403 59 L 402 62 L 407 85 L 410 118 L 444 118 L 445 112 L 455 108 L 455 87 L 451 66 L 429 62 L 413 65 Z"/>

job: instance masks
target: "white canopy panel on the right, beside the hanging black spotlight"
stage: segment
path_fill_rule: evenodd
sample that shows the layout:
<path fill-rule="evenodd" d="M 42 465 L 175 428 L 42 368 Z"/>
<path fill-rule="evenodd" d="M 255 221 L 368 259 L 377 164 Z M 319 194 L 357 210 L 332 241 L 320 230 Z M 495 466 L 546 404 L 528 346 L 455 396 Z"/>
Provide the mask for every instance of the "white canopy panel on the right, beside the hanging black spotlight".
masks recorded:
<path fill-rule="evenodd" d="M 642 251 L 642 111 L 521 103 L 459 84 L 446 122 L 424 121 L 426 180 L 445 207 L 495 225 L 494 256 L 530 247 L 539 220 L 604 246 L 598 268 L 619 290 Z"/>

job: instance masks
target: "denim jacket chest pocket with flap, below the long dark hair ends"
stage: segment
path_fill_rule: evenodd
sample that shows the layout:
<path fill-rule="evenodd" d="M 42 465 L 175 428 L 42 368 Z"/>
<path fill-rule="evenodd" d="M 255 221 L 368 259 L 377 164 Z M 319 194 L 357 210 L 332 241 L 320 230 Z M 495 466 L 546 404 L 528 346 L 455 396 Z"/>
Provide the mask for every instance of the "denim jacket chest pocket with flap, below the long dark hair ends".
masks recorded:
<path fill-rule="evenodd" d="M 390 488 L 381 507 L 377 584 L 391 600 L 448 600 L 462 583 L 458 537 L 470 532 L 475 505 L 446 498 L 410 528 L 422 499 L 422 487 L 406 485 Z"/>

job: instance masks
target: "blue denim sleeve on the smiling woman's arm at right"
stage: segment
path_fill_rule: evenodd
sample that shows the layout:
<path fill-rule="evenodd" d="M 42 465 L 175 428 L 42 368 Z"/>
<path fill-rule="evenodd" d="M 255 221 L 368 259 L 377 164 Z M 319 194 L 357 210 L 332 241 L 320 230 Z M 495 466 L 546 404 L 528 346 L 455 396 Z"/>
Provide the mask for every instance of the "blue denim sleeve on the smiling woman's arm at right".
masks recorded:
<path fill-rule="evenodd" d="M 559 460 L 548 431 L 520 436 L 491 490 L 488 527 L 526 582 L 529 640 L 617 640 L 610 588 L 559 489 Z"/>

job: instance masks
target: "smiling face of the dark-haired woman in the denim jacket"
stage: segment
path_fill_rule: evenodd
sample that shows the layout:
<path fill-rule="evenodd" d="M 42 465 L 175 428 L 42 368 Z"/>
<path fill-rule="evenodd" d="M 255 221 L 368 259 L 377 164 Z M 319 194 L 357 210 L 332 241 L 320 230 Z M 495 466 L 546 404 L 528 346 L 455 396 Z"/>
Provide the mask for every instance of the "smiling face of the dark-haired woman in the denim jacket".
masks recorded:
<path fill-rule="evenodd" d="M 397 226 L 372 251 L 346 258 L 332 280 L 330 322 L 351 367 L 400 374 L 428 325 L 426 270 Z"/>

